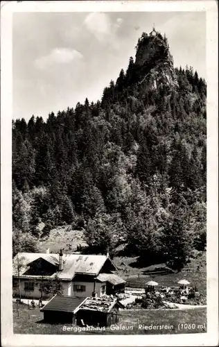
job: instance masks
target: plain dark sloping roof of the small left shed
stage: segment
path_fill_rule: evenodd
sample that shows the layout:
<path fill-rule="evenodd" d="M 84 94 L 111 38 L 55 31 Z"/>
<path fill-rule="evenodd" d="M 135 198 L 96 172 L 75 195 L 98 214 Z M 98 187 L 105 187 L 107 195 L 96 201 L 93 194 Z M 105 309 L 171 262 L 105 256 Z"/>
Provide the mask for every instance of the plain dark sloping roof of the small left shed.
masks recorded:
<path fill-rule="evenodd" d="M 83 301 L 85 298 L 55 295 L 40 311 L 73 312 Z"/>

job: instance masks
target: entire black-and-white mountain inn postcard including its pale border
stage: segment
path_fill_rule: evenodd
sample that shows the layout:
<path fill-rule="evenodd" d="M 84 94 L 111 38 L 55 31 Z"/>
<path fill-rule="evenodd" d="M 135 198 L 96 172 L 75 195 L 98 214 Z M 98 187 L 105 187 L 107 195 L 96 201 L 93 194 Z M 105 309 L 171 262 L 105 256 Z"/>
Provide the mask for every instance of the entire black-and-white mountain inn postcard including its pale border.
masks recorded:
<path fill-rule="evenodd" d="M 125 346 L 134 335 L 146 346 L 142 335 L 152 335 L 162 346 L 198 335 L 201 345 L 217 324 L 207 311 L 218 307 L 207 10 L 12 2 L 11 115 L 1 112 L 11 133 L 1 194 L 11 215 L 1 228 L 11 334 L 17 344 L 31 335 L 27 346 L 37 335 L 79 344 L 83 335 L 87 346 L 94 337 Z"/>

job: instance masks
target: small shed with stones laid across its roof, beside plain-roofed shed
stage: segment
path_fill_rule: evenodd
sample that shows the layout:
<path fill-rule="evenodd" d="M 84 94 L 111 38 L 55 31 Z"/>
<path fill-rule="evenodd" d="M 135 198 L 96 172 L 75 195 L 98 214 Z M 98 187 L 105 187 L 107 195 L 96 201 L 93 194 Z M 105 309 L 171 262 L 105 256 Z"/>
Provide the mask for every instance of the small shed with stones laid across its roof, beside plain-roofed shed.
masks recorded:
<path fill-rule="evenodd" d="M 74 311 L 77 325 L 109 326 L 119 323 L 123 305 L 111 296 L 86 298 Z"/>

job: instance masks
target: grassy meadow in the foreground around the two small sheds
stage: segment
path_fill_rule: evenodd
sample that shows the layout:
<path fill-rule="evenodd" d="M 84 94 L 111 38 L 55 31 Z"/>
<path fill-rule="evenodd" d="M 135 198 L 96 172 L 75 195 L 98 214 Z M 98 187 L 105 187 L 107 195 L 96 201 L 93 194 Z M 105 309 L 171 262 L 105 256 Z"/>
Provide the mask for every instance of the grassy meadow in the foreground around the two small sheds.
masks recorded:
<path fill-rule="evenodd" d="M 187 332 L 206 332 L 207 331 L 207 311 L 205 308 L 196 310 L 122 310 L 119 325 L 133 326 L 133 330 L 110 330 L 107 328 L 105 332 L 73 332 L 64 331 L 63 324 L 48 324 L 40 322 L 43 319 L 43 314 L 39 308 L 28 310 L 27 305 L 19 305 L 19 316 L 17 314 L 17 304 L 13 303 L 14 317 L 14 333 L 15 334 L 114 334 L 114 335 L 130 335 L 130 334 L 177 334 Z M 139 321 L 138 321 L 139 320 Z M 195 324 L 193 329 L 178 330 L 179 324 Z M 170 329 L 156 330 L 139 330 L 139 324 L 142 325 L 173 325 Z M 205 324 L 205 328 L 198 325 Z M 67 325 L 72 327 L 73 325 Z"/>

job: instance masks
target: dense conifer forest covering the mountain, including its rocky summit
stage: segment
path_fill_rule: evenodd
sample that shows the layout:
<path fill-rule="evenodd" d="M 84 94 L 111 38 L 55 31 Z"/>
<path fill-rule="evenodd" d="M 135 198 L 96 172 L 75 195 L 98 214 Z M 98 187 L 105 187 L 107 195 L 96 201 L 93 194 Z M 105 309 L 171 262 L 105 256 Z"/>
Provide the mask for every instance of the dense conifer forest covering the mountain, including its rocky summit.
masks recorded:
<path fill-rule="evenodd" d="M 204 250 L 207 85 L 173 67 L 165 35 L 143 33 L 136 50 L 101 101 L 12 121 L 14 253 L 64 223 L 91 253 L 123 244 L 178 270 Z"/>

